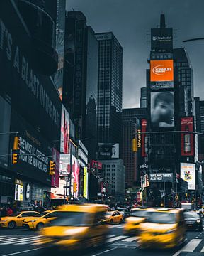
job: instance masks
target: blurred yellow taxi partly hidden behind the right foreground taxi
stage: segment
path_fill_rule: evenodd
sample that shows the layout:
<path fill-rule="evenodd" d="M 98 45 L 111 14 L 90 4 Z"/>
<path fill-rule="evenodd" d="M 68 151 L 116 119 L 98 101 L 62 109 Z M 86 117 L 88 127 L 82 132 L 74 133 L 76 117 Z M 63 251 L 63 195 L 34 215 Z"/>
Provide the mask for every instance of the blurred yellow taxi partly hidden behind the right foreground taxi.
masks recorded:
<path fill-rule="evenodd" d="M 126 218 L 123 232 L 127 235 L 140 232 L 140 223 L 145 222 L 147 208 L 134 208 L 130 212 L 130 217 Z"/>

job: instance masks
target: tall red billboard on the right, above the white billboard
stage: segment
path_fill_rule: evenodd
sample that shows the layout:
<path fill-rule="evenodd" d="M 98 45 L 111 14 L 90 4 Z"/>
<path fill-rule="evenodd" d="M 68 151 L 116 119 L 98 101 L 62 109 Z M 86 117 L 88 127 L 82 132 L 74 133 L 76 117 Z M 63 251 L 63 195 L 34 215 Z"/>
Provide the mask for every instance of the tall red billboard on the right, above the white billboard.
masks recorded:
<path fill-rule="evenodd" d="M 181 131 L 193 132 L 193 117 L 181 117 Z M 181 156 L 194 156 L 194 134 L 181 133 Z"/>

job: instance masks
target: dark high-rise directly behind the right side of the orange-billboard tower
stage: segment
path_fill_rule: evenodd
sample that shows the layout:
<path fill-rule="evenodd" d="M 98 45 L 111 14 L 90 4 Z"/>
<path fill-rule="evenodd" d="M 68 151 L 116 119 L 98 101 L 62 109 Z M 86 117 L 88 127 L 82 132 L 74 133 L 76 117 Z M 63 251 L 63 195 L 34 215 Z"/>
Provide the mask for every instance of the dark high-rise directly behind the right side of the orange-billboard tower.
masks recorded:
<path fill-rule="evenodd" d="M 178 70 L 179 90 L 180 90 L 180 111 L 187 116 L 193 114 L 193 69 L 185 48 L 174 49 L 174 65 Z M 187 102 L 186 102 L 187 97 Z M 187 104 L 186 104 L 187 103 Z M 187 106 L 186 106 L 187 105 Z"/>

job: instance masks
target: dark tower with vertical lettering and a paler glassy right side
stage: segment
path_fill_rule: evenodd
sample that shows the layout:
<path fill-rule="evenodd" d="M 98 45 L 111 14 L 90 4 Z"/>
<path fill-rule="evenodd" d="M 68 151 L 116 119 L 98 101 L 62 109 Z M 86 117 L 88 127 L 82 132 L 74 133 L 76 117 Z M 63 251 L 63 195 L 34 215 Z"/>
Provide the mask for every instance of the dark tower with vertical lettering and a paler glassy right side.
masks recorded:
<path fill-rule="evenodd" d="M 67 12 L 64 41 L 63 104 L 69 110 L 77 139 L 96 158 L 98 41 L 80 11 Z"/>

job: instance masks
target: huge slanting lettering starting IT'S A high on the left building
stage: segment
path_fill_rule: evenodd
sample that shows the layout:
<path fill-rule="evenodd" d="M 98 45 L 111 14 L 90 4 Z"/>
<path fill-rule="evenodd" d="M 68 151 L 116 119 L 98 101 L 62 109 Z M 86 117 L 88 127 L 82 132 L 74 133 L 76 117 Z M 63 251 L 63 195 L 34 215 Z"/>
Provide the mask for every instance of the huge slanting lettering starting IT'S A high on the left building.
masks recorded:
<path fill-rule="evenodd" d="M 13 68 L 16 69 L 21 78 L 28 86 L 28 89 L 35 97 L 40 105 L 45 109 L 47 114 L 52 119 L 57 127 L 60 127 L 60 113 L 57 111 L 50 97 L 45 92 L 45 89 L 40 84 L 37 75 L 30 68 L 28 60 L 21 53 L 21 49 L 13 43 L 11 33 L 0 19 L 0 50 L 6 51 L 6 57 L 11 63 Z"/>

